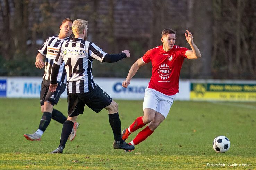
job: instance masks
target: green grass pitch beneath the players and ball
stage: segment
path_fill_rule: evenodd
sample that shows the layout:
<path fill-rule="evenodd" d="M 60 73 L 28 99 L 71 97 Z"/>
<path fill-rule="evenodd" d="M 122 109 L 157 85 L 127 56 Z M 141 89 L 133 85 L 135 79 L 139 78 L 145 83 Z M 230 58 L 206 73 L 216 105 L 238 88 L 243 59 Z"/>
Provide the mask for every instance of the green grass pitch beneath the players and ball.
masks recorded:
<path fill-rule="evenodd" d="M 116 102 L 122 128 L 142 116 L 143 101 Z M 66 115 L 66 100 L 54 107 Z M 256 103 L 175 101 L 167 119 L 130 153 L 113 149 L 106 110 L 94 113 L 85 107 L 78 116 L 77 136 L 67 142 L 63 154 L 49 154 L 58 146 L 62 130 L 54 120 L 41 141 L 23 137 L 38 128 L 42 115 L 38 99 L 1 98 L 0 111 L 0 169 L 255 169 L 256 165 Z M 231 142 L 223 154 L 212 148 L 219 135 Z M 229 163 L 250 166 L 229 167 Z"/>

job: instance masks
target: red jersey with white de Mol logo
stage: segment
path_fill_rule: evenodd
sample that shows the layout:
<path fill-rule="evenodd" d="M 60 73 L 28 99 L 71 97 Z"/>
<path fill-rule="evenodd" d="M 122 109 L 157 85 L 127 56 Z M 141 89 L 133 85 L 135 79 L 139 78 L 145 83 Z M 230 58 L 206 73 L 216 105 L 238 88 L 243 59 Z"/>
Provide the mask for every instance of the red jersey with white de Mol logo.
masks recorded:
<path fill-rule="evenodd" d="M 174 45 L 169 51 L 163 50 L 163 45 L 150 49 L 141 58 L 144 63 L 151 61 L 152 76 L 148 88 L 155 89 L 165 95 L 179 92 L 180 70 L 185 53 L 188 49 Z"/>

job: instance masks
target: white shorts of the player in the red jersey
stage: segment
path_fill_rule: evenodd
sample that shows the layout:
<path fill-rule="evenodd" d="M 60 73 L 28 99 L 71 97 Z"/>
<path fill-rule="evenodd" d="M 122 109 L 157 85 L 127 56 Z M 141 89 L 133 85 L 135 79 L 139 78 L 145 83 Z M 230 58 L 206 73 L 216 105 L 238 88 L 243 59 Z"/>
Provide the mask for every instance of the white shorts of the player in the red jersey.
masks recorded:
<path fill-rule="evenodd" d="M 159 91 L 147 87 L 145 89 L 143 110 L 145 108 L 151 108 L 156 112 L 161 113 L 166 118 L 170 111 L 175 96 L 175 94 L 172 96 L 168 96 Z"/>

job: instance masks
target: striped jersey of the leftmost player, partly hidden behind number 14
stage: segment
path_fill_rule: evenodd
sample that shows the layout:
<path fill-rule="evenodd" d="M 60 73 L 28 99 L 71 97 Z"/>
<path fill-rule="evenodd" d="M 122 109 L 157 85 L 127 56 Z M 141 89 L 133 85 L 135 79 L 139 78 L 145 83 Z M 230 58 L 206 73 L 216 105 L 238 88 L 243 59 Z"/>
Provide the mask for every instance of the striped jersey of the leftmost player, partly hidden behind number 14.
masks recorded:
<path fill-rule="evenodd" d="M 51 81 L 53 61 L 58 54 L 61 43 L 67 39 L 69 39 L 69 37 L 65 39 L 59 39 L 58 36 L 49 37 L 38 50 L 39 53 L 46 57 L 43 79 Z M 57 81 L 66 83 L 66 70 L 64 69 L 64 64 L 60 66 Z"/>

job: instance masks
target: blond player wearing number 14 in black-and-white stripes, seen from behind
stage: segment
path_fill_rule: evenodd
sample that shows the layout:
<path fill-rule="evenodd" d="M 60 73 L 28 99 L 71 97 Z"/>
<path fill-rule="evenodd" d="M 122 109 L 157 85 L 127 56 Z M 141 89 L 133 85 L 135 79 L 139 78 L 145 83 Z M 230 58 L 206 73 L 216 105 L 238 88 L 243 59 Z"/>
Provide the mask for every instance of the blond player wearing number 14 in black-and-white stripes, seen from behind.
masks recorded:
<path fill-rule="evenodd" d="M 66 40 L 60 47 L 54 60 L 50 90 L 54 92 L 58 86 L 57 73 L 64 62 L 67 71 L 68 91 L 68 119 L 63 124 L 59 147 L 51 153 L 62 153 L 74 122 L 79 114 L 83 114 L 87 105 L 95 112 L 103 108 L 108 110 L 109 123 L 114 134 L 115 149 L 133 150 L 134 146 L 127 144 L 121 138 L 121 121 L 118 115 L 118 105 L 93 81 L 93 59 L 100 62 L 117 62 L 130 57 L 130 52 L 125 50 L 119 54 L 107 54 L 94 43 L 87 40 L 87 21 L 75 20 L 72 26 L 75 38 Z"/>

